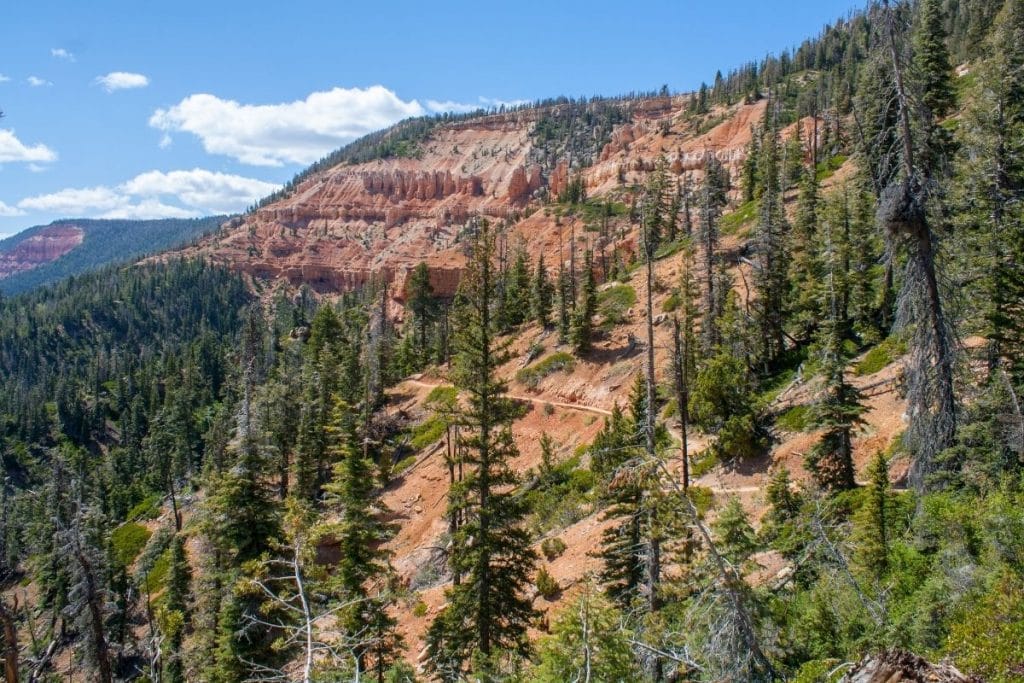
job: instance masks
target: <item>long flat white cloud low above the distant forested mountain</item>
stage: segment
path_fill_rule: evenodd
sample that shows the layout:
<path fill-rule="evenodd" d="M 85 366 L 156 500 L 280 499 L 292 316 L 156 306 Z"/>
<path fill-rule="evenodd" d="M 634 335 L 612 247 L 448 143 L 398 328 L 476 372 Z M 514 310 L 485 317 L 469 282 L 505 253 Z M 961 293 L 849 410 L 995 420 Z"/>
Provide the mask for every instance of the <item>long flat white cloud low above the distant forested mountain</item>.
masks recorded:
<path fill-rule="evenodd" d="M 278 185 L 196 168 L 150 171 L 120 185 L 67 188 L 29 197 L 22 211 L 98 218 L 187 218 L 243 211 Z"/>

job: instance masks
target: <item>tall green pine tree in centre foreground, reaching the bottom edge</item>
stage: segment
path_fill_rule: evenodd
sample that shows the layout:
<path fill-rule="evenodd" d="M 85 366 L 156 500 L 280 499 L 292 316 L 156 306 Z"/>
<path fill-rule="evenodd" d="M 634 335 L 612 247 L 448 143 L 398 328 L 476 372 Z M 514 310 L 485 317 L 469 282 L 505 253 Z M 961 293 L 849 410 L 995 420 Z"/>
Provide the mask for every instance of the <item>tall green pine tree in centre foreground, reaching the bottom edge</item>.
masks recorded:
<path fill-rule="evenodd" d="M 469 395 L 462 416 L 469 472 L 465 521 L 453 539 L 451 561 L 467 581 L 450 590 L 449 605 L 427 637 L 432 666 L 446 680 L 470 659 L 489 678 L 499 653 L 525 655 L 535 613 L 524 592 L 537 556 L 521 526 L 526 510 L 514 494 L 519 479 L 510 465 L 517 453 L 513 404 L 496 376 L 508 351 L 496 339 L 492 318 L 498 294 L 494 256 L 494 236 L 481 221 L 460 284 L 455 326 L 456 385 Z"/>

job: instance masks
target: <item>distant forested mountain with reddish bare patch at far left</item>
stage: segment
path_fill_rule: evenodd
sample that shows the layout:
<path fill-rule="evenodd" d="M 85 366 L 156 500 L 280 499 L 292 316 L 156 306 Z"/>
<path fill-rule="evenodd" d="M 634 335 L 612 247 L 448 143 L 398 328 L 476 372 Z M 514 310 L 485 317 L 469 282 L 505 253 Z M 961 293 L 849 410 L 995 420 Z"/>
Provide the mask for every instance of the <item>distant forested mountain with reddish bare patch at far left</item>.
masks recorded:
<path fill-rule="evenodd" d="M 16 294 L 93 268 L 182 246 L 226 220 L 58 220 L 0 240 L 0 292 Z"/>

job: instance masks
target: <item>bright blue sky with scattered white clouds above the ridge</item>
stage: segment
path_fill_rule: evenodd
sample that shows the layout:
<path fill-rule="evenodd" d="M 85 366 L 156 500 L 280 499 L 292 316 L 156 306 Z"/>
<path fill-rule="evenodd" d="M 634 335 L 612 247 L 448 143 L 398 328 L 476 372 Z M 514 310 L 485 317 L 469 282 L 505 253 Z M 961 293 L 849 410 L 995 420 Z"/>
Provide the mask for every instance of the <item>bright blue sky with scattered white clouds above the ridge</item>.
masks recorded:
<path fill-rule="evenodd" d="M 410 116 L 695 89 L 854 0 L 17 0 L 0 10 L 0 238 L 244 210 Z"/>

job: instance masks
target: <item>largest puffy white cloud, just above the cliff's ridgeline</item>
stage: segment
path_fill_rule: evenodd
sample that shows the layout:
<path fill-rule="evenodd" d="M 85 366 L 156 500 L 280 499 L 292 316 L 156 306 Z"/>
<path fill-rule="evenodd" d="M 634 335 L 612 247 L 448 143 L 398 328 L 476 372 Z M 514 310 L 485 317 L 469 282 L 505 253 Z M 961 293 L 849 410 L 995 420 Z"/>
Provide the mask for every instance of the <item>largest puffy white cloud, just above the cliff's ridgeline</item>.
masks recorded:
<path fill-rule="evenodd" d="M 279 104 L 242 104 L 195 94 L 157 110 L 150 125 L 187 132 L 210 154 L 254 166 L 309 164 L 361 135 L 427 111 L 384 86 L 334 88 Z"/>

